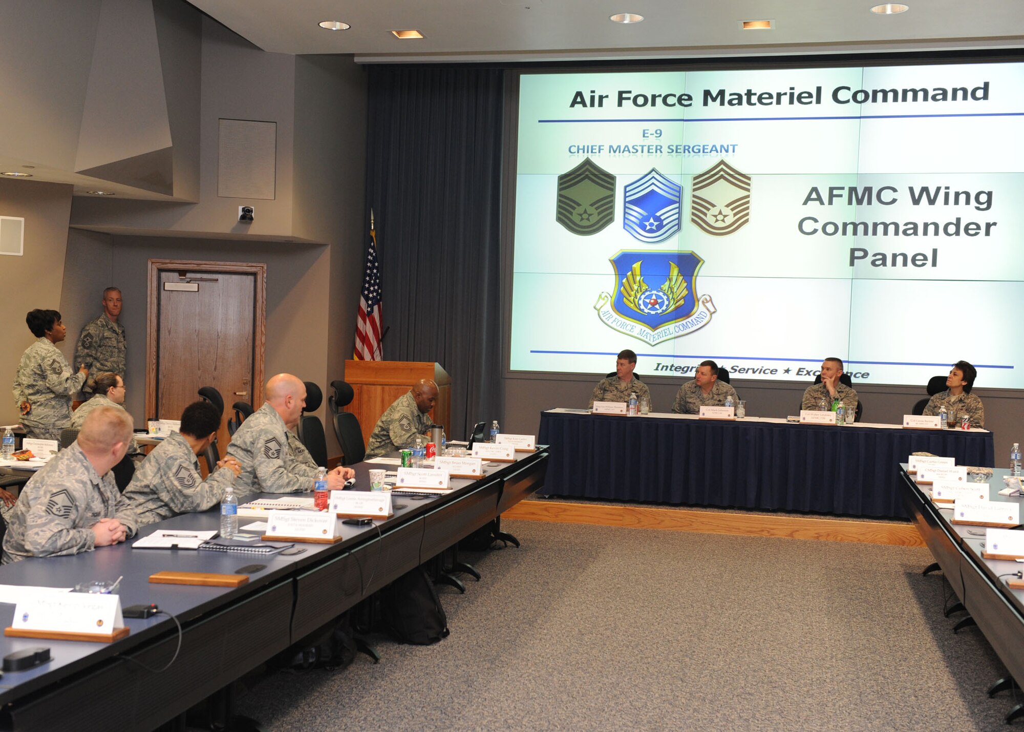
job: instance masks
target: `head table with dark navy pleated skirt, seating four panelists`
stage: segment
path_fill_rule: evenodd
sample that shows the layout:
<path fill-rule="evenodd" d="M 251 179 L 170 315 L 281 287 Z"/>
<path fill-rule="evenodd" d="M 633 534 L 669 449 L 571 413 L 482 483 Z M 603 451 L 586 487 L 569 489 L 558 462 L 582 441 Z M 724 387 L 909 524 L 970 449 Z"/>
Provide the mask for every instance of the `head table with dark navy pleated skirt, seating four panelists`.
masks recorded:
<path fill-rule="evenodd" d="M 559 408 L 542 412 L 538 442 L 551 447 L 547 495 L 861 517 L 906 517 L 893 465 L 911 452 L 994 464 L 985 430 L 771 417 Z"/>

